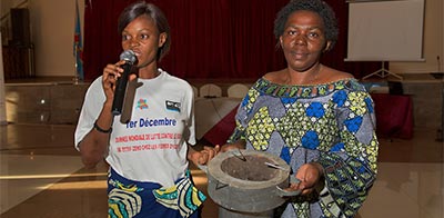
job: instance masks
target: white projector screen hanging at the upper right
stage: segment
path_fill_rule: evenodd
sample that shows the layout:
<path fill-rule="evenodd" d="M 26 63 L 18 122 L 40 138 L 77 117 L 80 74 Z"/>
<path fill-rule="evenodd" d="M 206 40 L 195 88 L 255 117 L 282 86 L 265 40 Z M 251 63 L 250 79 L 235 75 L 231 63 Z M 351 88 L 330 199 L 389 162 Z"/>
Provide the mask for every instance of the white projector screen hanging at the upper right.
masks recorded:
<path fill-rule="evenodd" d="M 424 0 L 349 3 L 346 61 L 424 60 Z"/>

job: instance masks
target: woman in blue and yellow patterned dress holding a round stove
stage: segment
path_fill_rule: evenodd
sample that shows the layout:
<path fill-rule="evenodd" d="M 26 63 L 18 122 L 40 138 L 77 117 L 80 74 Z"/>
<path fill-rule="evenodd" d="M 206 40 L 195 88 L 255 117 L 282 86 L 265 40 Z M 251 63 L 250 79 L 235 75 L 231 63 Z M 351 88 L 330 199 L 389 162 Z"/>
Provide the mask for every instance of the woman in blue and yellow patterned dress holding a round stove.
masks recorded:
<path fill-rule="evenodd" d="M 320 62 L 337 39 L 333 10 L 322 0 L 290 1 L 274 21 L 287 67 L 249 90 L 229 143 L 285 160 L 290 190 L 301 195 L 275 217 L 354 217 L 376 178 L 379 142 L 373 100 L 351 73 Z"/>

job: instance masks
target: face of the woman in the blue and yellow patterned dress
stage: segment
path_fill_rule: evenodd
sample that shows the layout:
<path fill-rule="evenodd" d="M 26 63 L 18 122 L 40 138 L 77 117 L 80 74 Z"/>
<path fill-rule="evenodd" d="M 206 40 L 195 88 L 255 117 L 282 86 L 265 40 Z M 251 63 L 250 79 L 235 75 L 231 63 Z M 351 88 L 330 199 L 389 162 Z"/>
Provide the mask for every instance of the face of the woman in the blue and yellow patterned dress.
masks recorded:
<path fill-rule="evenodd" d="M 322 18 L 305 10 L 289 16 L 280 41 L 289 67 L 295 71 L 313 67 L 330 44 L 325 39 Z"/>

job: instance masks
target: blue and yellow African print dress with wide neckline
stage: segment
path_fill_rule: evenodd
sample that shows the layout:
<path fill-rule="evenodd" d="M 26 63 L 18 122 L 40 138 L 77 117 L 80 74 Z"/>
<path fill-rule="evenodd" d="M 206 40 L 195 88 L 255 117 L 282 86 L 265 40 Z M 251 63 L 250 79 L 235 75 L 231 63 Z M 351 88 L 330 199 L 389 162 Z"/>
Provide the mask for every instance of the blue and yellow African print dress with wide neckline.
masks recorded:
<path fill-rule="evenodd" d="M 315 86 L 259 79 L 238 109 L 229 142 L 280 156 L 293 172 L 316 161 L 324 168 L 319 194 L 289 200 L 282 217 L 353 217 L 376 178 L 373 100 L 355 79 Z"/>

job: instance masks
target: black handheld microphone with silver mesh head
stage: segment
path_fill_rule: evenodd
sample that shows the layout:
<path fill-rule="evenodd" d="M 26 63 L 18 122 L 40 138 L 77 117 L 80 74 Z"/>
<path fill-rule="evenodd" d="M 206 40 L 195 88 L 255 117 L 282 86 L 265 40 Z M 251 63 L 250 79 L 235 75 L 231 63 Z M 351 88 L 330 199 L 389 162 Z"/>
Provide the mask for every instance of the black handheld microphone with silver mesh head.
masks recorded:
<path fill-rule="evenodd" d="M 123 69 L 123 73 L 115 81 L 114 99 L 112 100 L 112 115 L 121 115 L 123 99 L 127 92 L 128 77 L 131 72 L 131 67 L 135 62 L 135 53 L 132 50 L 125 50 L 120 54 L 120 60 L 125 60 L 125 63 L 120 66 Z"/>

